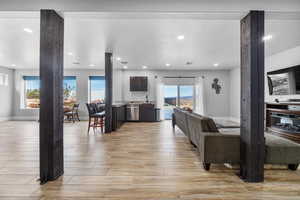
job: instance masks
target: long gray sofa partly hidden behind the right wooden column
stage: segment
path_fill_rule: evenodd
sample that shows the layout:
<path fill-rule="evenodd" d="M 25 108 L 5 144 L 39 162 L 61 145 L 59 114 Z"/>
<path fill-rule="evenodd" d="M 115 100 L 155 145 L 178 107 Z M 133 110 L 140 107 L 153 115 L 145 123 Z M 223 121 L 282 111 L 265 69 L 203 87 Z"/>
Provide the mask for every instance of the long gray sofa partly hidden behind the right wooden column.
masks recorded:
<path fill-rule="evenodd" d="M 173 127 L 178 126 L 197 148 L 206 170 L 211 163 L 240 163 L 240 135 L 238 132 L 220 132 L 213 119 L 195 113 L 174 109 Z M 290 140 L 265 133 L 266 164 L 284 164 L 296 170 L 300 163 L 300 145 Z"/>

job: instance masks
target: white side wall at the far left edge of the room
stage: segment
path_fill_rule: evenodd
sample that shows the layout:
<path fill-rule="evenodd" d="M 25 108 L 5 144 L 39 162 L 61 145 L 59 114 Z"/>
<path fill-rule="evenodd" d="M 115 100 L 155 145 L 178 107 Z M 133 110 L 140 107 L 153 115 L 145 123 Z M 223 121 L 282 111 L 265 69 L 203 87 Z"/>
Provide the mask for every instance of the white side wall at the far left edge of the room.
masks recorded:
<path fill-rule="evenodd" d="M 8 75 L 7 85 L 0 85 L 0 121 L 9 120 L 12 116 L 14 70 L 0 67 L 0 74 Z"/>

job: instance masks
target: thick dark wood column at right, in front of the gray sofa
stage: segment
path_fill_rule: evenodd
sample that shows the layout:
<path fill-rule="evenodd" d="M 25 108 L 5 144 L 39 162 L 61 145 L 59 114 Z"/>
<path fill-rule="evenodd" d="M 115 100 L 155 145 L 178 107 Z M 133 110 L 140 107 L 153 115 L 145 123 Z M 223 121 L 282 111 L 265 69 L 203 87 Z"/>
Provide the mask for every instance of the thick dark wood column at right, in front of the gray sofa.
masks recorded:
<path fill-rule="evenodd" d="M 264 11 L 241 20 L 241 178 L 264 180 Z"/>

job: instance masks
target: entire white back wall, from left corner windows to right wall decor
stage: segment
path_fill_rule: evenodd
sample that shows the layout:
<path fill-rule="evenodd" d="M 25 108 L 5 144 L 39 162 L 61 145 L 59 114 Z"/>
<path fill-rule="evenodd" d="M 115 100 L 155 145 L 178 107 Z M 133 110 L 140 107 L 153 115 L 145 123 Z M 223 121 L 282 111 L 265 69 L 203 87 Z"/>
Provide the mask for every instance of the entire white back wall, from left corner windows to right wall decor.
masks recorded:
<path fill-rule="evenodd" d="M 35 70 L 16 70 L 15 71 L 15 101 L 13 110 L 13 119 L 15 120 L 37 120 L 39 109 L 24 109 L 22 108 L 22 99 L 24 86 L 23 76 L 39 75 Z M 88 102 L 88 77 L 91 75 L 104 75 L 103 70 L 66 70 L 65 76 L 76 76 L 77 81 L 77 101 L 80 103 L 80 115 L 83 118 L 87 116 L 85 103 Z M 149 90 L 145 92 L 130 92 L 129 77 L 130 76 L 148 76 Z M 229 117 L 230 108 L 226 106 L 230 99 L 230 81 L 228 70 L 215 71 L 137 71 L 137 70 L 114 70 L 113 80 L 113 101 L 114 102 L 130 102 L 130 101 L 145 101 L 147 94 L 150 101 L 157 103 L 157 83 L 164 76 L 195 76 L 204 77 L 203 92 L 205 97 L 206 115 L 213 117 Z M 221 93 L 217 95 L 215 90 L 211 88 L 214 78 L 219 78 L 221 85 Z M 198 101 L 200 101 L 198 99 Z M 157 104 L 161 105 L 161 104 Z"/>

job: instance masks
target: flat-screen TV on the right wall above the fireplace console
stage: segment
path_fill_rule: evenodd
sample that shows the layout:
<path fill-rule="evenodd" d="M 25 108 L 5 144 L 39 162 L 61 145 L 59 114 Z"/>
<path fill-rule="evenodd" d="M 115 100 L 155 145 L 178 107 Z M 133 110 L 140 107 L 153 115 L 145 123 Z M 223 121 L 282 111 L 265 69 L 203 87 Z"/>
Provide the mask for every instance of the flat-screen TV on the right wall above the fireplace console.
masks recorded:
<path fill-rule="evenodd" d="M 300 94 L 300 65 L 267 73 L 270 95 Z"/>

